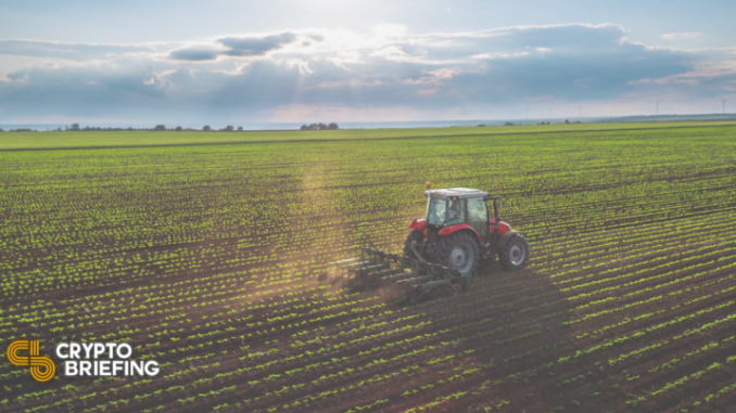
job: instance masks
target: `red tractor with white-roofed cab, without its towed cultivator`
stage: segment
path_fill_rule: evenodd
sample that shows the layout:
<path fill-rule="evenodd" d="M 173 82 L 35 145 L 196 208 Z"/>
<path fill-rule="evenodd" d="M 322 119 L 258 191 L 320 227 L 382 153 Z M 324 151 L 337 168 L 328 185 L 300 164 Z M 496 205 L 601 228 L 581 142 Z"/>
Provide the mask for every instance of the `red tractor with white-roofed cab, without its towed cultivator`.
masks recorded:
<path fill-rule="evenodd" d="M 503 207 L 499 196 L 467 188 L 428 190 L 424 196 L 429 198 L 427 216 L 409 223 L 405 256 L 418 254 L 417 258 L 464 273 L 473 273 L 481 258 L 493 259 L 496 255 L 506 270 L 526 264 L 529 244 L 521 233 L 498 219 Z"/>

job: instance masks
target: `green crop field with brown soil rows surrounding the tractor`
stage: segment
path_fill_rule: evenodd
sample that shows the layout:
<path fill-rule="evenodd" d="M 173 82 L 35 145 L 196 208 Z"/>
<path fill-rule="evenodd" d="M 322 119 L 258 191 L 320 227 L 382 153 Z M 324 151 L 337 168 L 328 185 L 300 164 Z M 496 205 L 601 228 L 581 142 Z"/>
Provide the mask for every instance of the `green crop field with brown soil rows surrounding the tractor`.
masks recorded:
<path fill-rule="evenodd" d="M 125 341 L 161 372 L 39 384 L 4 359 L 0 411 L 732 411 L 736 126 L 456 129 L 3 134 L 0 350 L 39 339 L 61 372 L 59 343 Z M 427 181 L 503 195 L 529 266 L 416 305 L 345 291 L 327 263 L 399 250 Z"/>

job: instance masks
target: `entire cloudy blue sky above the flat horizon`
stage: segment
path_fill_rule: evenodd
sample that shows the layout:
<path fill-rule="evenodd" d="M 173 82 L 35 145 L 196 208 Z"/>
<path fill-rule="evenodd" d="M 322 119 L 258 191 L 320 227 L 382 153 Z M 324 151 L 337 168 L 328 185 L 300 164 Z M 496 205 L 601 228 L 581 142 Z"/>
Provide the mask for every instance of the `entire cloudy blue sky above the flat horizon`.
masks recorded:
<path fill-rule="evenodd" d="M 3 1 L 0 124 L 736 112 L 734 1 Z"/>

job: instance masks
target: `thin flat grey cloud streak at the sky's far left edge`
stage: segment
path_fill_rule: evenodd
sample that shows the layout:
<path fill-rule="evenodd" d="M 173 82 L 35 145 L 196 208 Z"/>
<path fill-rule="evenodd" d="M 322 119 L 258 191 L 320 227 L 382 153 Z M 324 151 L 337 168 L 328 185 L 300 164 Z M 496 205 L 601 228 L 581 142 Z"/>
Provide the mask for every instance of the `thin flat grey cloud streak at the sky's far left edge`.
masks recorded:
<path fill-rule="evenodd" d="M 0 40 L 0 54 L 36 57 L 60 57 L 73 61 L 87 61 L 104 57 L 109 54 L 129 52 L 152 52 L 145 46 L 54 43 L 50 41 Z"/>

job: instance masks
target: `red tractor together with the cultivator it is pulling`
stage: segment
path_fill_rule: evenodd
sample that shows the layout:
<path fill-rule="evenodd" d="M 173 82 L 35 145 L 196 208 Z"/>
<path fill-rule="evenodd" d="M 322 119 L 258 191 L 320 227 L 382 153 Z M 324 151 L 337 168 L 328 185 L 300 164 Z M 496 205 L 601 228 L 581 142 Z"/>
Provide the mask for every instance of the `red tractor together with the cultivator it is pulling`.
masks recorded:
<path fill-rule="evenodd" d="M 467 188 L 427 188 L 427 216 L 409 223 L 403 254 L 361 247 L 359 257 L 330 262 L 347 288 L 388 286 L 395 298 L 416 301 L 435 291 L 468 291 L 482 258 L 497 256 L 509 271 L 526 264 L 529 244 L 498 219 L 499 196 Z"/>

